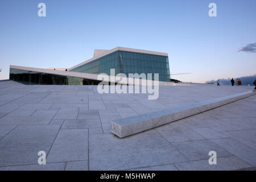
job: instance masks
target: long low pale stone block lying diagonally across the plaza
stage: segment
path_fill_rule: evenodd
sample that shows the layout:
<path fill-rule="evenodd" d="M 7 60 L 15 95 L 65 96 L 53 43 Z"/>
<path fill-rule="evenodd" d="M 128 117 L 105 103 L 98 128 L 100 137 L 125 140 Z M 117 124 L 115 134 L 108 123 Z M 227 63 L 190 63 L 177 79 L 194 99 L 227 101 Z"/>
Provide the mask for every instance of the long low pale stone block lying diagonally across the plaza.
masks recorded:
<path fill-rule="evenodd" d="M 110 131 L 119 138 L 127 137 L 142 131 L 152 129 L 182 118 L 189 117 L 234 101 L 241 100 L 256 94 L 254 91 L 247 91 L 231 96 L 214 98 L 213 100 L 197 102 L 192 105 L 164 109 L 153 113 L 136 115 L 133 117 L 116 119 L 111 121 Z"/>

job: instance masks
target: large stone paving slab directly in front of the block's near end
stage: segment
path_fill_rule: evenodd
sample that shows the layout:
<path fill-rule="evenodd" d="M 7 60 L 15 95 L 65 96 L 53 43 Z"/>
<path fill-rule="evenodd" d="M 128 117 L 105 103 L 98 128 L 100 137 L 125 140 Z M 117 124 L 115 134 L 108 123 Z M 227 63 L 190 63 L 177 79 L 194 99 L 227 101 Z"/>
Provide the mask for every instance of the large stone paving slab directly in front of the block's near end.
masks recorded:
<path fill-rule="evenodd" d="M 187 159 L 156 131 L 124 139 L 112 134 L 89 136 L 90 170 L 117 170 L 184 162 Z"/>

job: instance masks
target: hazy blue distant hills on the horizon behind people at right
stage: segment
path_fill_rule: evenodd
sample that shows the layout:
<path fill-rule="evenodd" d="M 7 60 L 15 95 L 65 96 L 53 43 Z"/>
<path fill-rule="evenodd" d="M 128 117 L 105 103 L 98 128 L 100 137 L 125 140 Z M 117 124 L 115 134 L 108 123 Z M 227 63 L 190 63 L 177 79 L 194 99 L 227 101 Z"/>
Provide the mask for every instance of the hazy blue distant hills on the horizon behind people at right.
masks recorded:
<path fill-rule="evenodd" d="M 236 80 L 237 79 L 240 79 L 241 82 L 242 82 L 242 85 L 251 85 L 253 86 L 253 82 L 254 80 L 256 79 L 256 74 L 255 75 L 252 75 L 252 76 L 243 76 L 243 77 L 238 77 L 238 78 L 234 78 L 234 81 L 235 81 L 235 85 L 236 85 Z M 231 78 L 228 78 L 228 79 L 220 79 L 220 84 L 221 85 L 231 85 L 231 82 L 230 82 Z M 217 80 L 210 80 L 210 81 L 207 81 L 205 82 L 205 84 L 209 84 L 209 83 L 214 83 L 216 84 Z"/>

